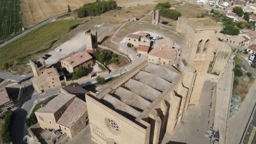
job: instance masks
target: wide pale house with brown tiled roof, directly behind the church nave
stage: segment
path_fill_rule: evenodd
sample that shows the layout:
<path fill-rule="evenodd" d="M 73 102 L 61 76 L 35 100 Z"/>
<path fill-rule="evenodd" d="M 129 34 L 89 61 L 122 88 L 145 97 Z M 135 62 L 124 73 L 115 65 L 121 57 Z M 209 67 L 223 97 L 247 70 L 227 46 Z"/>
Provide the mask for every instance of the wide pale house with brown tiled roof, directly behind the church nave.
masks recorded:
<path fill-rule="evenodd" d="M 153 48 L 148 54 L 148 62 L 155 64 L 173 64 L 178 54 L 168 47 Z"/>

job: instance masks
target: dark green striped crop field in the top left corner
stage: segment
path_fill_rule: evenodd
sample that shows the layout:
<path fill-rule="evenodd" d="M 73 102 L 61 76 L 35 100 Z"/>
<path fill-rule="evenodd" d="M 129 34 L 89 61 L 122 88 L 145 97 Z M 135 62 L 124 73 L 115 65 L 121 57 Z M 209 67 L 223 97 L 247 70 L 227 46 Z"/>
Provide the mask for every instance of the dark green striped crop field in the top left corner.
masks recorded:
<path fill-rule="evenodd" d="M 19 0 L 0 0 L 0 43 L 21 32 Z"/>

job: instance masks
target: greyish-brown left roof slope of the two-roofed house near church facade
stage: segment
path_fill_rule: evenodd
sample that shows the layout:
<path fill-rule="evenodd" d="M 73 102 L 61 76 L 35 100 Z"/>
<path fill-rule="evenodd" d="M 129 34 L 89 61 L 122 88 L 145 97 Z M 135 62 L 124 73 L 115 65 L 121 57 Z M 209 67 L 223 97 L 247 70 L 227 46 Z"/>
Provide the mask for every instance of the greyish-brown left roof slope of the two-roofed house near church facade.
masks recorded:
<path fill-rule="evenodd" d="M 62 106 L 67 104 L 70 100 L 72 100 L 75 95 L 67 94 L 67 93 L 60 93 L 54 99 L 49 101 L 44 107 L 38 109 L 36 112 L 40 113 L 55 113 L 57 112 Z"/>

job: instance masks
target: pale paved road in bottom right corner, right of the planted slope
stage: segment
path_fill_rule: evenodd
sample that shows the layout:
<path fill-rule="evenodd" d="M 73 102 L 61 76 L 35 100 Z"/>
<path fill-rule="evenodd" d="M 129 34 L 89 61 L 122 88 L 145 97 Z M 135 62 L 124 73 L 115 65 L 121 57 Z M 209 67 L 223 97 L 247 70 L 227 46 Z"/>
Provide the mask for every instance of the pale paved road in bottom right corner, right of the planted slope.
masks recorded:
<path fill-rule="evenodd" d="M 237 114 L 229 118 L 227 144 L 239 144 L 256 103 L 256 81 L 240 105 Z"/>

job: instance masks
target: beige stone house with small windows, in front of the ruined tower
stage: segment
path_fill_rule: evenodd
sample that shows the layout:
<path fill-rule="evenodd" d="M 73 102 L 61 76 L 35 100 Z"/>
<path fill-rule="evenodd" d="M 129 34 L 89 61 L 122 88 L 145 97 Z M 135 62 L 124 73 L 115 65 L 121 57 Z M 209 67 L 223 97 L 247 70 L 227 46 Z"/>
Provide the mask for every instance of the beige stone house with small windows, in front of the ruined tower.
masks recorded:
<path fill-rule="evenodd" d="M 54 67 L 45 69 L 43 74 L 33 77 L 31 81 L 38 93 L 45 93 L 66 85 L 66 77 L 59 75 Z"/>

